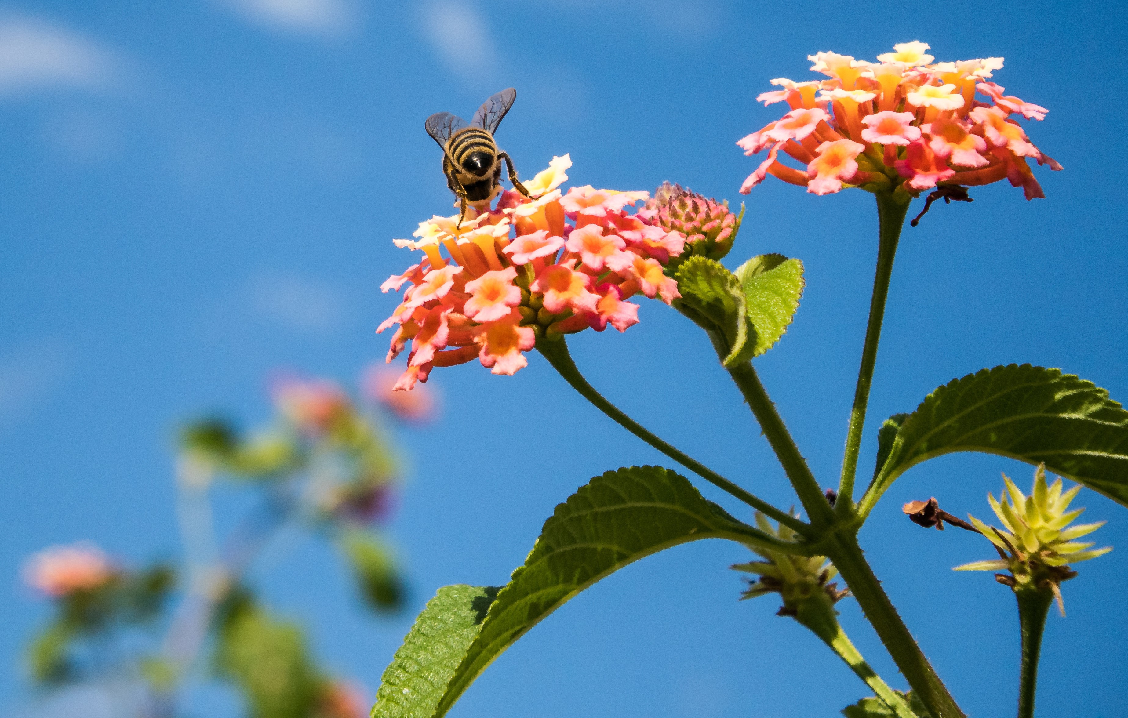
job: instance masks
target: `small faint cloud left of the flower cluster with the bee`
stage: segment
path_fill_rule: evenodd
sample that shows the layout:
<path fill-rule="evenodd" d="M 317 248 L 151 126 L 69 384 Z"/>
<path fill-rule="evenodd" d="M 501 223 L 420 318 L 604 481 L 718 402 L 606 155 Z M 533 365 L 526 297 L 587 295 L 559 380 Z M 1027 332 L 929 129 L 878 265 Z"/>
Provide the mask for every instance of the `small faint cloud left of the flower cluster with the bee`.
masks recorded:
<path fill-rule="evenodd" d="M 287 329 L 326 333 L 344 322 L 345 302 L 335 289 L 299 274 L 258 274 L 247 284 L 255 316 Z"/>

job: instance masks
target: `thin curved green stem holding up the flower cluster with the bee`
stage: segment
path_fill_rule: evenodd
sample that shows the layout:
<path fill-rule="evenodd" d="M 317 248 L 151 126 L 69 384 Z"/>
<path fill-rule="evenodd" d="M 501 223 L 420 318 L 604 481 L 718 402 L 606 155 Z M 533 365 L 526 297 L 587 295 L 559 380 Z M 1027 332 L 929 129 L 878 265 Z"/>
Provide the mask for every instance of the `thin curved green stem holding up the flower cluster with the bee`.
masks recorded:
<path fill-rule="evenodd" d="M 559 375 L 564 378 L 564 381 L 571 384 L 572 388 L 579 391 L 584 399 L 593 404 L 597 409 L 609 416 L 623 428 L 627 429 L 690 471 L 697 473 L 710 484 L 713 484 L 729 494 L 732 494 L 752 508 L 763 512 L 765 515 L 794 529 L 801 534 L 807 535 L 810 533 L 811 526 L 807 523 L 803 523 L 799 518 L 779 511 L 772 504 L 740 488 L 716 471 L 705 467 L 699 461 L 681 453 L 670 444 L 643 428 L 641 424 L 632 419 L 629 416 L 620 411 L 618 407 L 605 399 L 602 395 L 596 391 L 596 389 L 588 383 L 588 380 L 583 378 L 580 370 L 576 369 L 575 362 L 572 361 L 572 355 L 567 351 L 567 344 L 563 338 L 541 338 L 537 342 L 537 349 L 539 349 L 545 358 L 548 360 L 548 363 L 553 365 L 553 369 L 559 372 Z"/>

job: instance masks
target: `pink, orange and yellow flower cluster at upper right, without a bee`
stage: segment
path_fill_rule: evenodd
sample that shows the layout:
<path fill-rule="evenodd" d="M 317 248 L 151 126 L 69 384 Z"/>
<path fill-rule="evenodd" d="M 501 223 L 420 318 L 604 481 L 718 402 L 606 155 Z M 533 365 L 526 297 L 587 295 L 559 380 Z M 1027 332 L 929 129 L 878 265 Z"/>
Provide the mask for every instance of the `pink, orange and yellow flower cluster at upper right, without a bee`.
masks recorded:
<path fill-rule="evenodd" d="M 1028 160 L 1061 166 L 1030 142 L 1016 117 L 1042 119 L 1049 110 L 990 81 L 1002 57 L 933 62 L 928 48 L 902 43 L 878 62 L 820 52 L 808 59 L 825 79 L 772 80 L 781 89 L 757 100 L 787 103 L 791 112 L 737 142 L 748 156 L 768 150 L 740 192 L 768 175 L 818 195 L 900 185 L 917 196 L 1005 178 L 1028 200 L 1045 197 Z M 804 167 L 783 163 L 781 152 Z"/>

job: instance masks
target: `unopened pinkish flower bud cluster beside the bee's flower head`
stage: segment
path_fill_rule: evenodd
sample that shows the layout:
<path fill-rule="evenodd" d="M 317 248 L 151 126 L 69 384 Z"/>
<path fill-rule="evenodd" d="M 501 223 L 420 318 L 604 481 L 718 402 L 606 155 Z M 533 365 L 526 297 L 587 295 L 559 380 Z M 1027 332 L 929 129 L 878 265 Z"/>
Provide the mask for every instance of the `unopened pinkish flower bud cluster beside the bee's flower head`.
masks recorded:
<path fill-rule="evenodd" d="M 651 224 L 686 236 L 685 251 L 679 257 L 671 257 L 668 265 L 676 269 L 693 256 L 721 259 L 729 254 L 744 207 L 741 205 L 740 214 L 735 214 L 729 210 L 728 200 L 706 200 L 696 192 L 682 189 L 681 185 L 666 181 L 654 190 L 654 197 L 646 201 L 640 214 L 649 216 Z"/>

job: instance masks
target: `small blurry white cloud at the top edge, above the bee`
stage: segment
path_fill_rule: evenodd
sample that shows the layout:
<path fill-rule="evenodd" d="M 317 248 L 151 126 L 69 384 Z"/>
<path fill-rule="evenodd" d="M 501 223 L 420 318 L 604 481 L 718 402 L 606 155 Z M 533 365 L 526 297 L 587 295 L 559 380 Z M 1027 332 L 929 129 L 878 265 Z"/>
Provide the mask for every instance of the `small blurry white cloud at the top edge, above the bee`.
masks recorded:
<path fill-rule="evenodd" d="M 423 10 L 423 34 L 447 68 L 485 80 L 497 65 L 497 50 L 482 15 L 465 2 L 434 2 Z"/>

